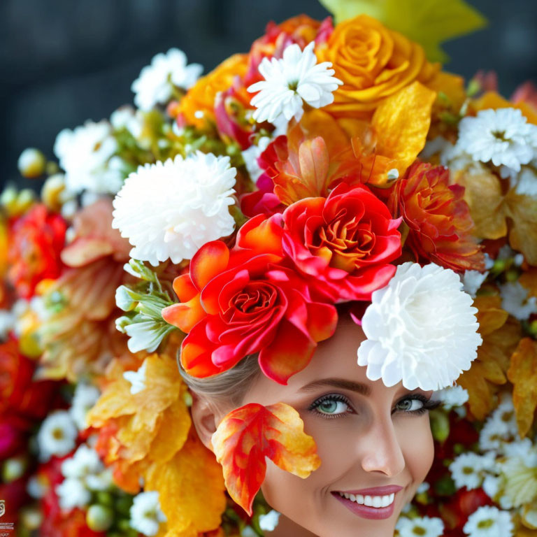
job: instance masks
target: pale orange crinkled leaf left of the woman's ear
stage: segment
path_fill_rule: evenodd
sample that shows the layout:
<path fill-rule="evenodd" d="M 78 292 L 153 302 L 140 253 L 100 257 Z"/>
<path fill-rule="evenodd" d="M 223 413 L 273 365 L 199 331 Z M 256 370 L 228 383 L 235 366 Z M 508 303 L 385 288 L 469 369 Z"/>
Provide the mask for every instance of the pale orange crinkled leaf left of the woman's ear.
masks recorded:
<path fill-rule="evenodd" d="M 129 492 L 136 492 L 145 468 L 165 464 L 182 449 L 191 425 L 184 399 L 187 387 L 176 362 L 150 355 L 144 363 L 145 389 L 131 394 L 122 363 L 113 361 L 103 393 L 87 417 L 99 429 L 98 451 L 113 466 L 115 482 Z"/>

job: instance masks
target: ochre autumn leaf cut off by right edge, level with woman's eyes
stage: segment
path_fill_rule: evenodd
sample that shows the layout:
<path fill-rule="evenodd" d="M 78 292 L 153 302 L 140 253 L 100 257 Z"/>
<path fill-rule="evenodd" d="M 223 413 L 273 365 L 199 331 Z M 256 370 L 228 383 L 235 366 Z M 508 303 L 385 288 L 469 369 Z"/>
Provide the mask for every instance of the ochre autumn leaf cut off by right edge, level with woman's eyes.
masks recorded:
<path fill-rule="evenodd" d="M 518 433 L 527 435 L 534 422 L 537 407 L 537 342 L 523 338 L 511 357 L 507 372 L 513 383 L 513 405 L 517 414 Z"/>

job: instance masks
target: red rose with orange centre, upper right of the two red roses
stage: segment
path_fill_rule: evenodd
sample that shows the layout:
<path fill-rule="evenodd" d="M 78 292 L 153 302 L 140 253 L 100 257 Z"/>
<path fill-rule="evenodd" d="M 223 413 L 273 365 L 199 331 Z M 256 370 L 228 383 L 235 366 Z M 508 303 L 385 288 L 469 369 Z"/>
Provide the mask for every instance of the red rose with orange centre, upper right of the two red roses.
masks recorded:
<path fill-rule="evenodd" d="M 284 252 L 334 301 L 369 300 L 394 275 L 399 220 L 366 186 L 341 183 L 327 198 L 296 201 L 282 219 Z"/>

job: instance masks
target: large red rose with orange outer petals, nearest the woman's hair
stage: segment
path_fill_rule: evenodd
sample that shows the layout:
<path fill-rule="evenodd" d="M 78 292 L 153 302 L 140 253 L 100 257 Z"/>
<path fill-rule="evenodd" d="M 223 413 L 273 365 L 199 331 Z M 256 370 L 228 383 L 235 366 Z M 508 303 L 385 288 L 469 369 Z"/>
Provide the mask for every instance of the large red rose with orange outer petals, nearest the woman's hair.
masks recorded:
<path fill-rule="evenodd" d="M 207 243 L 189 275 L 176 278 L 183 303 L 162 317 L 189 332 L 181 362 L 191 375 L 221 373 L 259 352 L 262 371 L 285 384 L 334 333 L 336 308 L 313 301 L 306 280 L 279 264 L 281 236 L 278 224 L 259 215 L 241 228 L 233 250 Z"/>

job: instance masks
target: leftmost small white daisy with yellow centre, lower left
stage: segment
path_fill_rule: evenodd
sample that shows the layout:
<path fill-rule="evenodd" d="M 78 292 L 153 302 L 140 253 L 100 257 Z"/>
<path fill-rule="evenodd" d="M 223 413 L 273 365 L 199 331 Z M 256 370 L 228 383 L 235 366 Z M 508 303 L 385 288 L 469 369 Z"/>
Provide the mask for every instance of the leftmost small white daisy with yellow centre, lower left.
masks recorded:
<path fill-rule="evenodd" d="M 39 459 L 48 461 L 52 455 L 63 457 L 76 444 L 78 429 L 67 410 L 56 410 L 45 417 L 37 434 Z"/>

